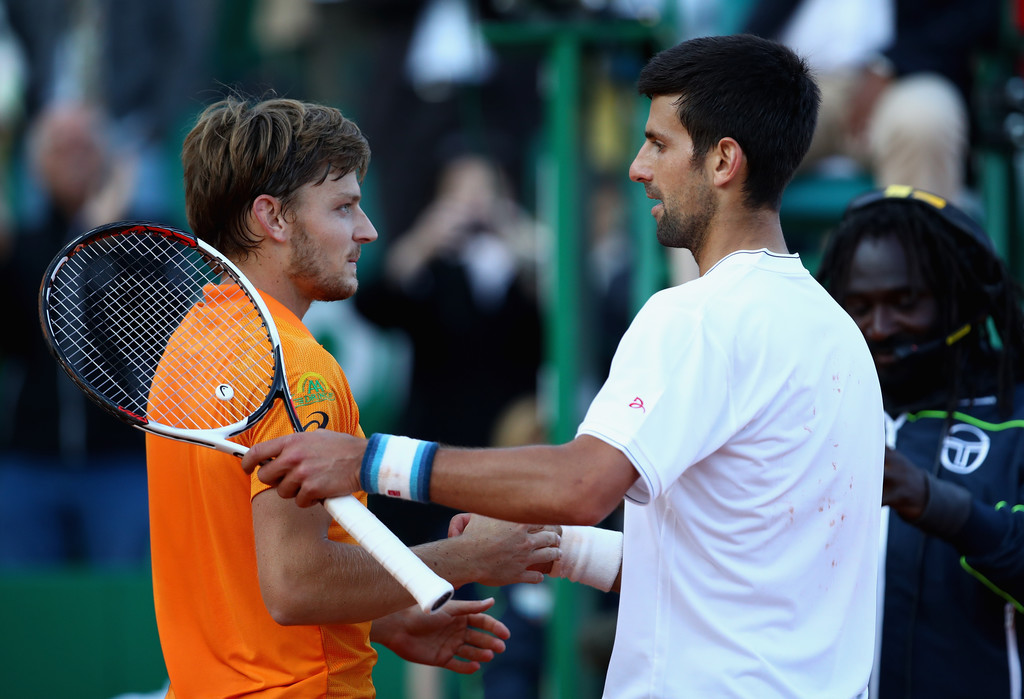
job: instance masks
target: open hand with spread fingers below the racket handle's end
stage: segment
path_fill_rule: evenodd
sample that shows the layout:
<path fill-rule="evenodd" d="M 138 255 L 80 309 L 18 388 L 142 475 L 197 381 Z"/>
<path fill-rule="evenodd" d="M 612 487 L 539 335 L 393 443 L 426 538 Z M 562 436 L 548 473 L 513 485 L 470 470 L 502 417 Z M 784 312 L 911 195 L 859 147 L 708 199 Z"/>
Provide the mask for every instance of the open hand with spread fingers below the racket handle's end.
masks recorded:
<path fill-rule="evenodd" d="M 414 605 L 374 621 L 370 639 L 411 662 L 471 674 L 504 652 L 511 636 L 508 626 L 482 613 L 494 604 L 494 598 L 453 600 L 430 615 Z"/>

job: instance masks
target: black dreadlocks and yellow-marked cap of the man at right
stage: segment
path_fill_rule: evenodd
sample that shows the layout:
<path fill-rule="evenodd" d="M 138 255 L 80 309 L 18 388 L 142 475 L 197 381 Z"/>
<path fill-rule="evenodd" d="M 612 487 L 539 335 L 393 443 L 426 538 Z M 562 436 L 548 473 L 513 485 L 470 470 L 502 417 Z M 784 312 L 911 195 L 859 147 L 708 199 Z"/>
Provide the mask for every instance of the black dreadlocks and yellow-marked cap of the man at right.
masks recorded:
<path fill-rule="evenodd" d="M 827 241 L 817 273 L 840 305 L 848 294 L 857 246 L 886 236 L 903 248 L 913 288 L 935 298 L 940 337 L 971 323 L 963 340 L 943 348 L 945 376 L 951 378 L 946 408 L 952 411 L 959 400 L 974 395 L 977 377 L 965 372 L 969 356 L 995 353 L 998 407 L 1009 414 L 1014 387 L 1024 377 L 1022 291 L 984 230 L 952 205 L 910 187 L 858 198 Z"/>

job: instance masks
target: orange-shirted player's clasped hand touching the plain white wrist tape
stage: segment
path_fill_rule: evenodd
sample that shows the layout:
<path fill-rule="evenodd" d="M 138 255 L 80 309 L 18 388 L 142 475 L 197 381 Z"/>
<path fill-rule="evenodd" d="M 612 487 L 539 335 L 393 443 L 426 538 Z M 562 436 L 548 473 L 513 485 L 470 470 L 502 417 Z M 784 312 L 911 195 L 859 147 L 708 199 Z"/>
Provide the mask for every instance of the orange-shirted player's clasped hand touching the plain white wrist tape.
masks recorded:
<path fill-rule="evenodd" d="M 477 564 L 472 579 L 489 587 L 514 582 L 541 582 L 561 558 L 561 527 L 514 524 L 462 513 L 452 518 L 449 537 L 465 544 L 460 556 Z"/>

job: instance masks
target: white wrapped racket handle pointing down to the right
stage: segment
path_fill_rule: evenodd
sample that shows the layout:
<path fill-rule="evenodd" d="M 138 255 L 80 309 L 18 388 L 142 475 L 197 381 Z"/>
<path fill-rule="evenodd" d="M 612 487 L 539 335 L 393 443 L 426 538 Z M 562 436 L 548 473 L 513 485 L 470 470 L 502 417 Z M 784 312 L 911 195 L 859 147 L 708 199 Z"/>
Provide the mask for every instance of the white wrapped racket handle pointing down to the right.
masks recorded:
<path fill-rule="evenodd" d="M 324 500 L 335 521 L 345 528 L 371 556 L 416 598 L 427 614 L 432 614 L 447 602 L 455 588 L 401 542 L 383 522 L 352 495 Z"/>

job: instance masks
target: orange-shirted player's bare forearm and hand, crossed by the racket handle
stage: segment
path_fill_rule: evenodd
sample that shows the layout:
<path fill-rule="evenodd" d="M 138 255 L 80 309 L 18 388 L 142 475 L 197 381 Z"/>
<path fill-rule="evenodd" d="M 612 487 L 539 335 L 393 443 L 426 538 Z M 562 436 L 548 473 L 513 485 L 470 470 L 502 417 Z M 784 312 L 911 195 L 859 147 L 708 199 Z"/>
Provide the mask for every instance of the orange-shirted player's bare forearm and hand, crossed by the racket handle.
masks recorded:
<path fill-rule="evenodd" d="M 327 434 L 327 431 L 324 431 Z M 360 547 L 328 538 L 324 508 L 301 509 L 272 491 L 253 498 L 253 528 L 263 602 L 282 624 L 355 623 L 414 603 L 412 596 Z M 479 519 L 461 536 L 413 551 L 459 587 L 539 582 L 530 567 L 558 558 L 550 528 Z"/>

